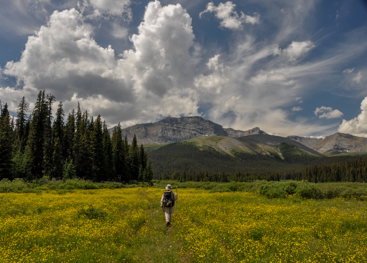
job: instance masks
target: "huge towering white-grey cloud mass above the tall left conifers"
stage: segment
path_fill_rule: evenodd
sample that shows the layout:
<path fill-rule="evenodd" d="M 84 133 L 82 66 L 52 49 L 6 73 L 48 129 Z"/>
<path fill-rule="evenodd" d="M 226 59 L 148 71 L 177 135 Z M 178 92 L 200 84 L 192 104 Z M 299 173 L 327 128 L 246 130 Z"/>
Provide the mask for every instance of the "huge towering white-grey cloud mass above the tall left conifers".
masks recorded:
<path fill-rule="evenodd" d="M 150 2 L 138 33 L 130 38 L 134 50 L 126 50 L 121 59 L 111 46 L 97 44 L 92 31 L 77 10 L 55 11 L 47 25 L 29 37 L 21 59 L 4 67 L 3 73 L 14 76 L 18 88 L 2 88 L 2 100 L 17 105 L 15 95 L 21 87 L 33 101 L 37 91 L 45 89 L 64 102 L 66 112 L 80 101 L 110 125 L 200 115 L 197 93 L 190 88 L 195 61 L 189 48 L 195 36 L 180 4 L 162 7 L 159 1 Z"/>

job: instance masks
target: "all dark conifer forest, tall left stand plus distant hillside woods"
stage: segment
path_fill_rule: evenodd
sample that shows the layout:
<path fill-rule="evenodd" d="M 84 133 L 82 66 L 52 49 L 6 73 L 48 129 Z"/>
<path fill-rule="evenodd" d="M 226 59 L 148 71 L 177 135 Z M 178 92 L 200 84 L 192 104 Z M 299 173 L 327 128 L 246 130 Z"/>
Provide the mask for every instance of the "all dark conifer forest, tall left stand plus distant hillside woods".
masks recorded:
<path fill-rule="evenodd" d="M 287 143 L 279 145 L 282 158 L 276 153 L 232 152 L 232 156 L 185 141 L 147 154 L 143 145 L 138 147 L 135 136 L 128 143 L 120 124 L 111 136 L 101 116 L 90 118 L 87 111 L 81 111 L 79 102 L 66 120 L 62 102 L 52 116 L 54 102 L 54 96 L 40 91 L 28 116 L 23 97 L 14 118 L 0 100 L 0 179 L 151 182 L 153 171 L 155 179 L 180 181 L 292 179 L 317 183 L 367 179 L 367 159 L 317 157 Z"/>

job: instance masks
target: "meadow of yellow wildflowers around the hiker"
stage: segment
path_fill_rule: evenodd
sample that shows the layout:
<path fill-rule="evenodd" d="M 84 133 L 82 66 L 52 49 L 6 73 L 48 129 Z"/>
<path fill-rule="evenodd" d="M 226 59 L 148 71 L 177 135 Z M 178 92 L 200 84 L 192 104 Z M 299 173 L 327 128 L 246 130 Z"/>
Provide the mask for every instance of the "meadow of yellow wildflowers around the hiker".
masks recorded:
<path fill-rule="evenodd" d="M 163 189 L 0 194 L 2 262 L 367 262 L 367 203 Z"/>

